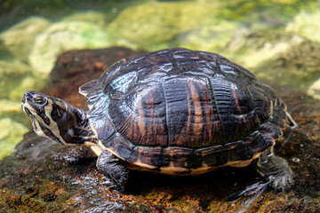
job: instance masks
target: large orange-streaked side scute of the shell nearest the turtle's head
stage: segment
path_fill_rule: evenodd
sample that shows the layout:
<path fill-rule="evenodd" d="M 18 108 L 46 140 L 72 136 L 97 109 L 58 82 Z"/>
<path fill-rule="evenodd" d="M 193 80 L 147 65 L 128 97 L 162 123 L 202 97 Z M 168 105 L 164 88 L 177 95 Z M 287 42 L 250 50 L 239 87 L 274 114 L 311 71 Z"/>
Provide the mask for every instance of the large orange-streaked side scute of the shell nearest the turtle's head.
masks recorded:
<path fill-rule="evenodd" d="M 108 112 L 116 130 L 137 146 L 168 146 L 164 91 L 161 83 L 136 84 L 114 96 Z"/>

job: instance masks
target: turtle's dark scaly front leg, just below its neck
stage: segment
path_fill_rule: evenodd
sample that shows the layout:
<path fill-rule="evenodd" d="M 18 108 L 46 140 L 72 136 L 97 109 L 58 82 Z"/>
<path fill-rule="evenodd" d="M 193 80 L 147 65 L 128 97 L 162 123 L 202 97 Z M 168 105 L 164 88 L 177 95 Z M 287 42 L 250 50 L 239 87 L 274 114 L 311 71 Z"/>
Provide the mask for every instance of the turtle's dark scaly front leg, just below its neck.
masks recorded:
<path fill-rule="evenodd" d="M 119 158 L 104 150 L 99 155 L 97 168 L 110 181 L 109 187 L 124 192 L 129 178 L 129 170 Z"/>

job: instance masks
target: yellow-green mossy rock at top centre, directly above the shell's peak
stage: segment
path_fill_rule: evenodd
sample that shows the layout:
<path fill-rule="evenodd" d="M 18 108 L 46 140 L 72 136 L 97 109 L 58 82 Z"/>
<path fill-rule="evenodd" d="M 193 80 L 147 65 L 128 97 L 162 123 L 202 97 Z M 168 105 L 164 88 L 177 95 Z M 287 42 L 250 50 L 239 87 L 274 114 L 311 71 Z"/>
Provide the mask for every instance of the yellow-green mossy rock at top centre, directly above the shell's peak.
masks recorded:
<path fill-rule="evenodd" d="M 215 24 L 214 17 L 219 14 L 218 2 L 152 2 L 125 9 L 108 30 L 148 49 L 149 45 L 170 41 L 179 33 Z"/>

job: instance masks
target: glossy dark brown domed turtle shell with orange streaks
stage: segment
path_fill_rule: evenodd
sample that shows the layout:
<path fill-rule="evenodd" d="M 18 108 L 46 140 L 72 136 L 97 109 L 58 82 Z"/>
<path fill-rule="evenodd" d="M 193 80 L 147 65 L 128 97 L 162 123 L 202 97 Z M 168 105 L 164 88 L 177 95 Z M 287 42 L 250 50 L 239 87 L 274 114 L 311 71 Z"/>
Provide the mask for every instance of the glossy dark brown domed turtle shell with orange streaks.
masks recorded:
<path fill-rule="evenodd" d="M 285 105 L 218 54 L 168 49 L 121 59 L 84 84 L 99 145 L 137 168 L 200 174 L 246 166 L 282 135 Z"/>

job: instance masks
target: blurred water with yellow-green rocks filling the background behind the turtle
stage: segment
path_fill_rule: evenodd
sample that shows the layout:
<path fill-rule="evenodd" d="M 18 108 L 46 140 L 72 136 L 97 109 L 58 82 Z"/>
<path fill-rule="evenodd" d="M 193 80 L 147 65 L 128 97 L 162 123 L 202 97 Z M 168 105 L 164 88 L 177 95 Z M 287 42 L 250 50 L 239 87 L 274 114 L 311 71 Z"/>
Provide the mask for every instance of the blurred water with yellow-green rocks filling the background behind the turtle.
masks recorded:
<path fill-rule="evenodd" d="M 48 87 L 58 55 L 112 46 L 134 51 L 180 46 L 227 57 L 276 86 L 302 126 L 298 135 L 305 138 L 301 136 L 300 145 L 309 140 L 317 150 L 318 112 L 300 100 L 308 94 L 315 99 L 306 103 L 316 106 L 320 99 L 319 6 L 318 1 L 286 0 L 4 1 L 0 6 L 0 159 L 11 154 L 30 130 L 20 109 L 22 94 Z M 299 92 L 296 101 L 288 90 Z M 297 168 L 307 159 L 289 157 Z M 318 163 L 316 159 L 311 162 Z"/>

